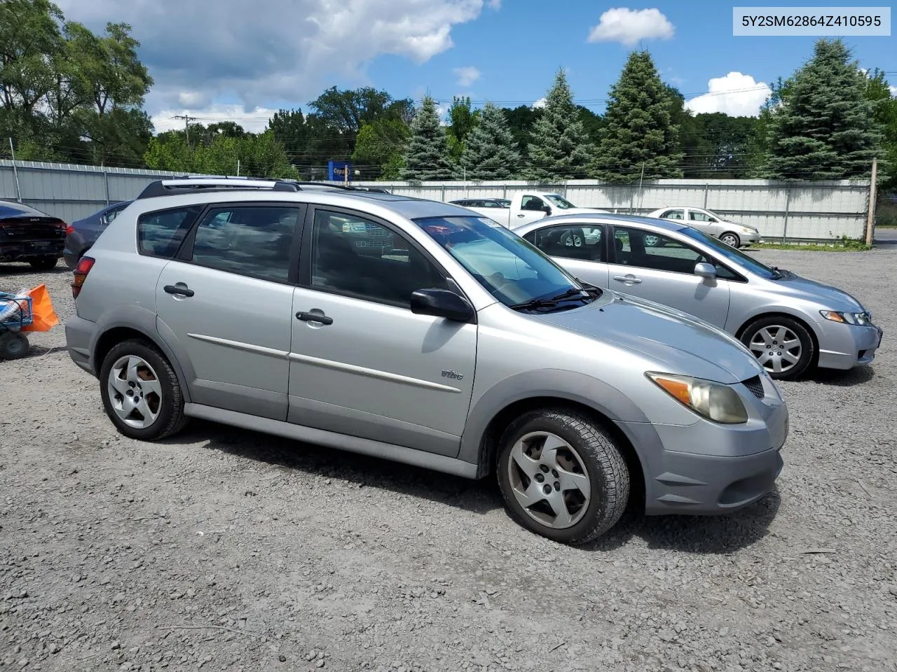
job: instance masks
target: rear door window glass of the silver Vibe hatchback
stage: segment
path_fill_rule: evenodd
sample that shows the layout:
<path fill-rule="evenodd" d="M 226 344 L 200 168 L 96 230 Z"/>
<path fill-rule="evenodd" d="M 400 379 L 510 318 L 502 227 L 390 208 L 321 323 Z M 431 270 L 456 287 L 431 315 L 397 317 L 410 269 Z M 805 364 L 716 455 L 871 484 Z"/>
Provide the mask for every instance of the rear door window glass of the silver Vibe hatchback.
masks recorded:
<path fill-rule="evenodd" d="M 213 208 L 196 228 L 193 263 L 286 282 L 300 210 L 283 206 Z"/>

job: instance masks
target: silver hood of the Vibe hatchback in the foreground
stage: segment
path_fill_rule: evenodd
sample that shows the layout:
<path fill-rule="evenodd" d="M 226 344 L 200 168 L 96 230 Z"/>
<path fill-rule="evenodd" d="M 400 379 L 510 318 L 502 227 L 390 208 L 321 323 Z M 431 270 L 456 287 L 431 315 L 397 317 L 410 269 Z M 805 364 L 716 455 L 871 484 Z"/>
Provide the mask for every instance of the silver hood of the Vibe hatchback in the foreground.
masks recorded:
<path fill-rule="evenodd" d="M 691 315 L 650 301 L 607 292 L 611 300 L 534 315 L 555 326 L 640 352 L 668 374 L 737 383 L 762 371 L 738 340 Z M 605 296 L 607 296 L 605 295 Z"/>

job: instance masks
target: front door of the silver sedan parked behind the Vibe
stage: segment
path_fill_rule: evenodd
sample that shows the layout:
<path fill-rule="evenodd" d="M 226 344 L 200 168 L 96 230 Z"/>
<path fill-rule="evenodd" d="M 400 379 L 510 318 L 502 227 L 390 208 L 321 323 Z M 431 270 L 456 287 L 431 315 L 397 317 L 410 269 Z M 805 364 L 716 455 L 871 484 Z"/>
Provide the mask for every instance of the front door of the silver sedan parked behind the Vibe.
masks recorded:
<path fill-rule="evenodd" d="M 731 271 L 677 237 L 634 226 L 614 226 L 613 247 L 608 266 L 611 289 L 677 308 L 718 327 L 725 325 L 729 306 L 725 275 Z M 713 263 L 723 277 L 707 280 L 695 275 L 694 266 L 700 262 Z"/>

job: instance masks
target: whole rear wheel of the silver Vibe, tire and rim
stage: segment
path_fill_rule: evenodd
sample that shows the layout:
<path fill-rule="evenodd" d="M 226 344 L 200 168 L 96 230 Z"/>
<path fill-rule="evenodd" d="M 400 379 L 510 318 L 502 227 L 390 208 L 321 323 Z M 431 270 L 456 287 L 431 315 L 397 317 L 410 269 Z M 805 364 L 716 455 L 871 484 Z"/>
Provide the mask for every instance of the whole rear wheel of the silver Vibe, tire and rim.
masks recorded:
<path fill-rule="evenodd" d="M 144 340 L 109 350 L 100 369 L 103 408 L 119 432 L 156 441 L 187 424 L 178 376 L 161 352 Z"/>

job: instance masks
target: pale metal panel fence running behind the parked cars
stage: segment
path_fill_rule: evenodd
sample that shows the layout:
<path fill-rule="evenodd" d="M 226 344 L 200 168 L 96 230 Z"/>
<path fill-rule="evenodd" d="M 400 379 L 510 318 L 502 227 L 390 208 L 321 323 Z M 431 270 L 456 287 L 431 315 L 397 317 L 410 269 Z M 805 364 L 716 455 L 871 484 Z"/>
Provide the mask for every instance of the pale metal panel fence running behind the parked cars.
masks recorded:
<path fill-rule="evenodd" d="M 179 175 L 161 170 L 101 168 L 0 160 L 0 199 L 26 202 L 65 221 L 86 217 L 108 202 L 134 198 L 153 179 Z M 705 207 L 760 229 L 769 238 L 862 237 L 869 202 L 868 180 L 779 183 L 768 180 L 658 180 L 639 185 L 602 185 L 570 180 L 555 185 L 509 182 L 360 182 L 394 194 L 436 201 L 510 197 L 530 189 L 565 194 L 581 207 L 644 214 L 668 206 Z"/>

